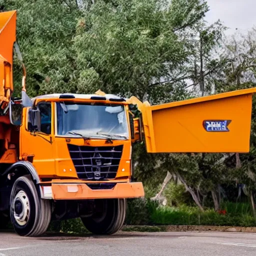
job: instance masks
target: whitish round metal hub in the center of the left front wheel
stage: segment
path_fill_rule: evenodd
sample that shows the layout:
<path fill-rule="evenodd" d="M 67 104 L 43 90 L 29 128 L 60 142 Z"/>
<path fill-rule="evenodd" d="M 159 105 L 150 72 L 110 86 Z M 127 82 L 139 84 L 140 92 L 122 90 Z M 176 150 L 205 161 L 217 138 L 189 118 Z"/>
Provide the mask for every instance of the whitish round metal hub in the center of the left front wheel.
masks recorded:
<path fill-rule="evenodd" d="M 13 200 L 14 218 L 19 225 L 25 225 L 29 218 L 29 201 L 26 193 L 20 190 Z"/>

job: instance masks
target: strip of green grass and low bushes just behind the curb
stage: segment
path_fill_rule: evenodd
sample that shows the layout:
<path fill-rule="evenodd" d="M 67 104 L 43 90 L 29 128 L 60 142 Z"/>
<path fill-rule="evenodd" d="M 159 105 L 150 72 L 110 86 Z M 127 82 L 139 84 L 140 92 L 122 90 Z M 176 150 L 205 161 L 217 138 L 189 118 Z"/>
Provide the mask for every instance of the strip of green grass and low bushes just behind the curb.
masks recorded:
<path fill-rule="evenodd" d="M 150 200 L 129 202 L 126 224 L 130 225 L 227 225 L 256 226 L 249 203 L 223 202 L 219 214 L 212 208 L 201 212 L 195 206 L 159 206 Z"/>

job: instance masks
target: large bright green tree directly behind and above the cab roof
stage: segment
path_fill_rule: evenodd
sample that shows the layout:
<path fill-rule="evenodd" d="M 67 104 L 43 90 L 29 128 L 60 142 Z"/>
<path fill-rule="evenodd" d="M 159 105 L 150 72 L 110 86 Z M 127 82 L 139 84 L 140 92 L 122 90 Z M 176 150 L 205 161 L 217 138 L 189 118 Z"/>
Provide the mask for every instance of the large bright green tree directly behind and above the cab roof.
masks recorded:
<path fill-rule="evenodd" d="M 98 0 L 84 12 L 74 38 L 77 67 L 91 68 L 90 75 L 94 73 L 107 92 L 135 95 L 151 103 L 175 100 L 175 95 L 182 98 L 185 84 L 174 83 L 175 71 L 190 51 L 178 31 L 197 22 L 206 4 L 199 0 L 116 3 Z M 86 84 L 82 87 L 86 91 Z"/>

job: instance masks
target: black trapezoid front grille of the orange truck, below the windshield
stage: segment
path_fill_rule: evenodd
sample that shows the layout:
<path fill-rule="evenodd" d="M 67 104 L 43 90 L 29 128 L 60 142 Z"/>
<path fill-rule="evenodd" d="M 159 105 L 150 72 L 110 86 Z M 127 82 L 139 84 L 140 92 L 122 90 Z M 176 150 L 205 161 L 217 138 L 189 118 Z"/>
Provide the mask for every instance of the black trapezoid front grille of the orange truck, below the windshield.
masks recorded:
<path fill-rule="evenodd" d="M 67 146 L 79 179 L 115 178 L 123 145 L 95 147 L 67 144 Z"/>

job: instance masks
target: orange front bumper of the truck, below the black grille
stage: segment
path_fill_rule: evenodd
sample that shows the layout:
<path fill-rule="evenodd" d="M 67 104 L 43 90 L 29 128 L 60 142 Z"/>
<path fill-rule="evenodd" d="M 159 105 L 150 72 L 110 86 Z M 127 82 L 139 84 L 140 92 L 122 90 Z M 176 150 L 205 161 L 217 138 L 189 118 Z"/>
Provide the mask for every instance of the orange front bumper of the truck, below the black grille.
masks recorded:
<path fill-rule="evenodd" d="M 51 183 L 41 186 L 41 197 L 54 200 L 137 198 L 144 196 L 141 182 L 116 183 L 111 189 L 91 189 L 86 183 Z"/>

